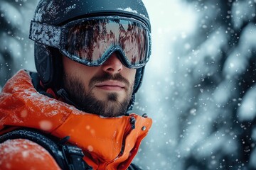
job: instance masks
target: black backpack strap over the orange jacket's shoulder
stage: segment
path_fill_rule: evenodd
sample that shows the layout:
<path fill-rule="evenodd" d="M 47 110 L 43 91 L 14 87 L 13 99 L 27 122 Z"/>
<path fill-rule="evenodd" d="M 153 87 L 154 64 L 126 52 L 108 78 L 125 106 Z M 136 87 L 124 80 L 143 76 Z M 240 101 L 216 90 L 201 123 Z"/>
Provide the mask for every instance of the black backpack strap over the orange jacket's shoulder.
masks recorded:
<path fill-rule="evenodd" d="M 41 145 L 53 156 L 53 158 L 55 159 L 55 161 L 61 169 L 92 169 L 82 159 L 82 157 L 84 157 L 82 149 L 73 145 L 64 145 L 64 143 L 69 139 L 69 137 L 65 137 L 64 140 L 58 141 L 58 138 L 53 137 L 51 135 L 46 135 L 43 132 L 40 132 L 39 130 L 23 128 L 7 132 L 6 134 L 1 135 L 0 143 L 6 140 L 14 139 L 31 140 L 32 142 L 36 142 L 38 145 Z"/>

